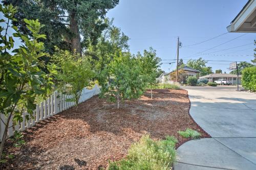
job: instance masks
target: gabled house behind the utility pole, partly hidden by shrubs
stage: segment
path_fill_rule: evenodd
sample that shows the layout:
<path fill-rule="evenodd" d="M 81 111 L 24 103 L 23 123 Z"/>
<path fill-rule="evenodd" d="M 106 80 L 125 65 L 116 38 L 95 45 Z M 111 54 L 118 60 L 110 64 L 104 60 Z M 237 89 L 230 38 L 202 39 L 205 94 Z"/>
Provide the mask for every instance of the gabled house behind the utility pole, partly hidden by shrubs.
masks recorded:
<path fill-rule="evenodd" d="M 184 66 L 183 69 L 185 71 L 186 74 L 186 78 L 191 77 L 191 76 L 197 76 L 197 74 L 199 74 L 201 71 L 196 70 L 194 68 L 188 67 L 188 66 Z M 179 69 L 179 70 L 180 70 Z M 172 71 L 174 72 L 174 71 Z M 164 72 L 163 74 L 161 74 L 158 78 L 160 83 L 172 83 L 172 81 L 170 81 L 170 73 L 172 72 Z"/>

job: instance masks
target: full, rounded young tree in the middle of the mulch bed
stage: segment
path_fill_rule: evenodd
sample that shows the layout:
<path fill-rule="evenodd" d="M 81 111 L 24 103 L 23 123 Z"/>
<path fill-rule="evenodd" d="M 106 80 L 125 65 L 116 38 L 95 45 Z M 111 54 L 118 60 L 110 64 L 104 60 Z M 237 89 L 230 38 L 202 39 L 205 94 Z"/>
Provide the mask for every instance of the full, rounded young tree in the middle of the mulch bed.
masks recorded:
<path fill-rule="evenodd" d="M 101 85 L 101 97 L 111 101 L 138 99 L 145 90 L 147 83 L 139 60 L 130 53 L 117 52 L 111 63 L 105 67 L 98 77 Z"/>

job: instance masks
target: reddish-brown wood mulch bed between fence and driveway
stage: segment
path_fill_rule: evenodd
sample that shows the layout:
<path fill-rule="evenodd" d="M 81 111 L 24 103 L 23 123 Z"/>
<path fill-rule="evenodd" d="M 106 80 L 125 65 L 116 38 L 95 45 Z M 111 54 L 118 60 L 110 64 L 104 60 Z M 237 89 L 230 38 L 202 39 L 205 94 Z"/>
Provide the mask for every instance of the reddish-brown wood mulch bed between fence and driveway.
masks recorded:
<path fill-rule="evenodd" d="M 133 142 L 143 134 L 153 139 L 175 136 L 191 128 L 209 137 L 190 117 L 186 90 L 147 91 L 139 100 L 116 104 L 94 96 L 24 131 L 26 144 L 13 148 L 7 140 L 6 152 L 15 158 L 0 169 L 101 169 L 109 160 L 125 157 Z"/>

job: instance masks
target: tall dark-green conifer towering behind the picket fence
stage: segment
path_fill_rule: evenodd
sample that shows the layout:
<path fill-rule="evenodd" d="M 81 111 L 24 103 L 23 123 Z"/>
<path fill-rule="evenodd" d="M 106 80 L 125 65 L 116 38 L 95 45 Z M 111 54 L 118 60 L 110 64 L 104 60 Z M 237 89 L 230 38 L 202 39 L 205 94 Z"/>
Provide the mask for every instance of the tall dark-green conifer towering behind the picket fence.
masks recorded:
<path fill-rule="evenodd" d="M 89 40 L 96 41 L 104 30 L 103 19 L 119 0 L 4 0 L 4 4 L 17 6 L 18 17 L 13 25 L 24 34 L 31 32 L 25 27 L 24 18 L 39 19 L 46 25 L 40 33 L 47 35 L 46 48 L 54 52 L 54 45 L 65 50 L 76 49 L 80 54 Z M 82 35 L 82 39 L 81 36 Z"/>

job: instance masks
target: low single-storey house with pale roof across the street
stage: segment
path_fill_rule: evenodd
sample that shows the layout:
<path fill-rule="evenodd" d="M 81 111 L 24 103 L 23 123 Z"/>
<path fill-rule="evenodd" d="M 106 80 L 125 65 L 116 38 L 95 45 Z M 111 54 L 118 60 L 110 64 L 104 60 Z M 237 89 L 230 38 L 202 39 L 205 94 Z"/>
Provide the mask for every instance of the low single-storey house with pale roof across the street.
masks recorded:
<path fill-rule="evenodd" d="M 237 84 L 237 75 L 215 73 L 215 74 L 199 77 L 199 79 L 203 79 L 203 78 L 208 79 L 209 82 L 215 82 L 216 80 L 219 80 L 219 79 L 222 79 L 222 80 L 226 79 L 228 81 L 231 81 L 232 84 Z M 241 75 L 238 77 L 238 83 L 241 84 Z"/>

